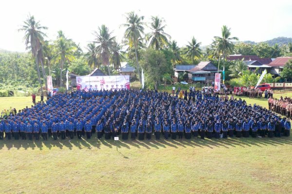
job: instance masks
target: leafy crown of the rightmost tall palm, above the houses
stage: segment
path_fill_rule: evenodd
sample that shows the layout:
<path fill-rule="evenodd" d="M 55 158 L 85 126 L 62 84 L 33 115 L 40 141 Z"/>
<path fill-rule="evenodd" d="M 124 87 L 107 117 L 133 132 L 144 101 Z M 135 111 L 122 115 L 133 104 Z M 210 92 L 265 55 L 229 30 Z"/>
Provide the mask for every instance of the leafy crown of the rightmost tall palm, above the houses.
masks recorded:
<path fill-rule="evenodd" d="M 225 25 L 221 28 L 221 34 L 222 37 L 214 36 L 215 41 L 213 42 L 213 45 L 216 48 L 217 55 L 219 56 L 220 53 L 222 53 L 223 59 L 226 59 L 226 55 L 231 53 L 234 49 L 232 40 L 238 40 L 238 38 L 230 37 L 230 28 Z"/>

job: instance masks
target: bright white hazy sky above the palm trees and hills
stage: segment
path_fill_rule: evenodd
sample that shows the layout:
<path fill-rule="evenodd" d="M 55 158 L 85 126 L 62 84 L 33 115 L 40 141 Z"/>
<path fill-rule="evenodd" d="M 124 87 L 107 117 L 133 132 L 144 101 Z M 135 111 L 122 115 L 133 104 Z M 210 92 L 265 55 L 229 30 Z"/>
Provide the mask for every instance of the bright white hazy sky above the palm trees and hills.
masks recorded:
<path fill-rule="evenodd" d="M 201 45 L 210 44 L 223 25 L 240 41 L 292 37 L 292 0 L 4 0 L 0 49 L 25 51 L 24 32 L 18 29 L 29 14 L 48 27 L 47 40 L 62 30 L 84 50 L 94 40 L 92 32 L 105 24 L 121 42 L 125 32 L 121 24 L 130 11 L 145 16 L 145 22 L 150 16 L 163 17 L 164 32 L 180 47 L 193 36 Z"/>

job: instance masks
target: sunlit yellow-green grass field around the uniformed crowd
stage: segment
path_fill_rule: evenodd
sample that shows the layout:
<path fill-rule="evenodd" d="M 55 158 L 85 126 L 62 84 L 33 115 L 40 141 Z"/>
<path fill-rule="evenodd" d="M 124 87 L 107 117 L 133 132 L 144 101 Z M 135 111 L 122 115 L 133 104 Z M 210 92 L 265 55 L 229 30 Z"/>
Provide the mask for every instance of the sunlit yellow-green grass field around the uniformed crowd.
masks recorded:
<path fill-rule="evenodd" d="M 0 98 L 0 109 L 26 105 L 31 97 Z M 96 134 L 91 140 L 5 139 L 0 140 L 0 193 L 289 194 L 291 155 L 291 137 L 117 144 L 97 140 Z"/>

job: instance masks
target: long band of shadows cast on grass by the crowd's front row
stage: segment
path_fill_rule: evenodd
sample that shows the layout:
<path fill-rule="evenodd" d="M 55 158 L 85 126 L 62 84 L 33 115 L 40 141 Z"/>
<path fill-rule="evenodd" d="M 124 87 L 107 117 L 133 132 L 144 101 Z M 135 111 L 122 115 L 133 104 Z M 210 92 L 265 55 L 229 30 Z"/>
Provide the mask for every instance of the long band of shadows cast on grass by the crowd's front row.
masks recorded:
<path fill-rule="evenodd" d="M 43 148 L 46 149 L 52 149 L 52 148 L 59 148 L 63 149 L 63 147 L 67 147 L 69 149 L 73 148 L 79 148 L 79 149 L 92 149 L 97 148 L 101 149 L 101 146 L 107 146 L 109 148 L 115 148 L 118 146 L 118 148 L 127 148 L 131 149 L 131 147 L 137 147 L 137 148 L 146 148 L 146 149 L 160 149 L 160 148 L 167 148 L 167 147 L 173 147 L 173 148 L 180 148 L 180 147 L 193 147 L 193 148 L 215 148 L 215 147 L 224 147 L 224 148 L 232 148 L 232 147 L 252 147 L 252 146 L 258 146 L 258 147 L 264 147 L 264 146 L 285 146 L 285 145 L 292 145 L 292 140 L 290 137 L 274 137 L 274 138 L 227 138 L 227 139 L 194 139 L 192 137 L 191 139 L 160 139 L 155 140 L 155 137 L 152 135 L 151 140 L 131 140 L 128 139 L 126 141 L 114 141 L 112 139 L 105 140 L 104 137 L 99 140 L 96 137 L 92 136 L 91 139 L 86 140 L 84 138 L 77 139 L 74 137 L 74 139 L 65 139 L 65 140 L 53 140 L 53 138 L 48 138 L 47 141 L 45 140 L 0 140 L 0 149 L 6 147 L 7 149 L 11 148 L 24 148 L 26 149 L 39 149 L 42 150 Z"/>

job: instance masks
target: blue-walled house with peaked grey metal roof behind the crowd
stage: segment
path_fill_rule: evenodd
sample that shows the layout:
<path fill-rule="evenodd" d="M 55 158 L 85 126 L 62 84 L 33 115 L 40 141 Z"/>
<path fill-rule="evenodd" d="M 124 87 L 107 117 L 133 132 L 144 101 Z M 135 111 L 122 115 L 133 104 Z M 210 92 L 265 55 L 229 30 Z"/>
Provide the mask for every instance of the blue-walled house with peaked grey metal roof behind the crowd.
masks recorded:
<path fill-rule="evenodd" d="M 194 68 L 187 70 L 190 81 L 211 83 L 215 80 L 215 73 L 218 72 L 218 67 L 210 61 L 202 61 Z M 219 70 L 222 72 L 222 70 Z"/>

